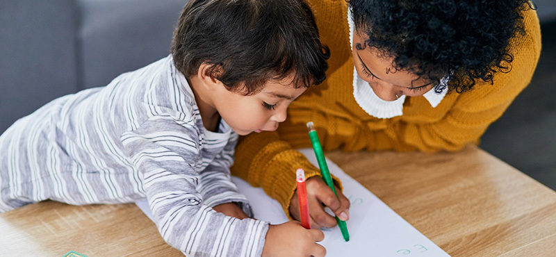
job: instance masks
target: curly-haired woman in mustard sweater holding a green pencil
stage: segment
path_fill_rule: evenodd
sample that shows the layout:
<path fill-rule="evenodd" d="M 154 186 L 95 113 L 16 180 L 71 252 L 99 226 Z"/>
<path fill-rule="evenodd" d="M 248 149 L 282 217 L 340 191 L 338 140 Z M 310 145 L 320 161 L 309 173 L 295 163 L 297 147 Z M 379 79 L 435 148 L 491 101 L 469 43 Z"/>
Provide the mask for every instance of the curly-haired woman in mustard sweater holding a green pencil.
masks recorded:
<path fill-rule="evenodd" d="M 349 201 L 295 151 L 311 147 L 306 122 L 325 151 L 457 151 L 478 144 L 539 60 L 529 1 L 309 2 L 331 53 L 327 80 L 291 104 L 277 131 L 243 138 L 232 172 L 298 219 L 295 169 L 304 168 L 311 227 L 336 224 L 322 204 L 348 219 Z"/>

